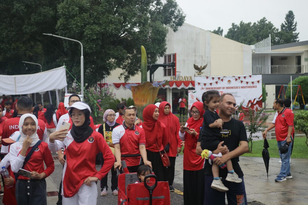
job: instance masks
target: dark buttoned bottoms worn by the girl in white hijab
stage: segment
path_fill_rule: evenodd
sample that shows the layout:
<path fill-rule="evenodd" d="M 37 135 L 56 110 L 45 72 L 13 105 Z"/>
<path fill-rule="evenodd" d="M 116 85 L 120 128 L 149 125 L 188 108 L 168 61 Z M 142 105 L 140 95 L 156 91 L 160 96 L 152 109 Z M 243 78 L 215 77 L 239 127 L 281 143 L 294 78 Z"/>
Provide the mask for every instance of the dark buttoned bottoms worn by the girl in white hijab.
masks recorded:
<path fill-rule="evenodd" d="M 15 197 L 18 205 L 47 205 L 46 180 L 17 179 Z"/>

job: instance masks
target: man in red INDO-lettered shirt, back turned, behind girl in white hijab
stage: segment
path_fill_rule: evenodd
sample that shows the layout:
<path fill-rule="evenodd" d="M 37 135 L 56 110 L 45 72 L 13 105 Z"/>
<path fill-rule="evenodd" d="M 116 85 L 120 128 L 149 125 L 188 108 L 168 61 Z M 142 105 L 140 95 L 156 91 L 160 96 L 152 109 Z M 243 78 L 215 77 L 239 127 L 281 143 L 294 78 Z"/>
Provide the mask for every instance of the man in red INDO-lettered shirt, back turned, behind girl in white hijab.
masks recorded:
<path fill-rule="evenodd" d="M 1 153 L 7 154 L 8 153 L 8 144 L 3 141 L 3 139 L 6 139 L 11 136 L 15 131 L 19 131 L 19 120 L 20 117 L 23 114 L 26 113 L 32 113 L 33 111 L 33 101 L 30 97 L 20 97 L 18 99 L 18 102 L 16 104 L 16 110 L 18 112 L 18 116 L 15 118 L 11 118 L 6 120 L 6 122 L 3 125 L 3 132 L 2 132 L 2 147 L 1 147 Z M 38 119 L 38 129 L 37 134 L 39 136 L 39 139 L 42 141 L 46 140 L 47 137 L 47 130 L 46 130 L 46 124 L 43 122 L 43 120 Z"/>

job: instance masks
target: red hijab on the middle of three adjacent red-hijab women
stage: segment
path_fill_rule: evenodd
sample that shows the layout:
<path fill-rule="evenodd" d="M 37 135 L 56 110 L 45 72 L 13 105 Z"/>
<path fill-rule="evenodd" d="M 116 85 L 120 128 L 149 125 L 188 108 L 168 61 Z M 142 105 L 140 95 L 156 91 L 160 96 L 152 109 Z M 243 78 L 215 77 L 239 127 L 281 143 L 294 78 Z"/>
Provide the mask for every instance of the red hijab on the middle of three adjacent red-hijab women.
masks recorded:
<path fill-rule="evenodd" d="M 176 122 L 179 122 L 179 118 L 177 118 L 177 116 L 175 116 L 171 112 L 171 110 L 170 110 L 169 114 L 166 115 L 165 112 L 164 112 L 164 108 L 165 108 L 166 105 L 170 106 L 170 104 L 168 102 L 166 102 L 166 101 L 163 101 L 163 102 L 160 103 L 160 105 L 159 105 L 159 118 L 158 119 L 162 123 L 164 123 L 164 125 L 166 127 L 168 127 L 168 130 L 170 131 L 169 132 L 170 134 L 171 133 L 176 133 L 176 126 L 175 125 L 176 125 Z M 170 106 L 170 108 L 171 108 L 171 106 Z M 179 132 L 179 131 L 177 131 L 177 132 Z"/>

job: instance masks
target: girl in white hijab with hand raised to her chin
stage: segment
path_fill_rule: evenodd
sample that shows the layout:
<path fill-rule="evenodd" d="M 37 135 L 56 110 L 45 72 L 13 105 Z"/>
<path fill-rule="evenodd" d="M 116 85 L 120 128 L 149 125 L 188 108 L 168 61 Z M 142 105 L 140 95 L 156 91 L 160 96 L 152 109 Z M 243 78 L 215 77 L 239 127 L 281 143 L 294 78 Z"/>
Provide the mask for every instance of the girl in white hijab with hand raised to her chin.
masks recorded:
<path fill-rule="evenodd" d="M 37 129 L 37 118 L 32 114 L 23 114 L 19 120 L 19 141 L 10 146 L 11 170 L 17 173 L 22 168 L 30 172 L 28 177 L 19 175 L 17 178 L 15 196 L 18 205 L 47 205 L 45 178 L 51 175 L 55 165 L 47 143 L 39 140 Z M 40 144 L 34 149 L 29 160 L 25 161 L 38 142 Z"/>

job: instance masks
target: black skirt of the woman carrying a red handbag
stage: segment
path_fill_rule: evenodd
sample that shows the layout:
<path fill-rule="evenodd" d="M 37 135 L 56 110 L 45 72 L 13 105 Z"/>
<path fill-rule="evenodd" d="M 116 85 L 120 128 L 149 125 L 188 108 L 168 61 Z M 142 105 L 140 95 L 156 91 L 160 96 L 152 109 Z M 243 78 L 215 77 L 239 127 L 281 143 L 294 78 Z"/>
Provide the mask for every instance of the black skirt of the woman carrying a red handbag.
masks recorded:
<path fill-rule="evenodd" d="M 151 152 L 147 150 L 148 160 L 152 163 L 152 171 L 160 182 L 167 181 L 167 170 L 163 165 L 159 152 Z"/>

